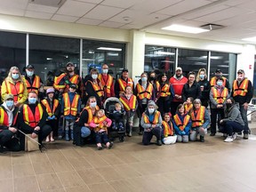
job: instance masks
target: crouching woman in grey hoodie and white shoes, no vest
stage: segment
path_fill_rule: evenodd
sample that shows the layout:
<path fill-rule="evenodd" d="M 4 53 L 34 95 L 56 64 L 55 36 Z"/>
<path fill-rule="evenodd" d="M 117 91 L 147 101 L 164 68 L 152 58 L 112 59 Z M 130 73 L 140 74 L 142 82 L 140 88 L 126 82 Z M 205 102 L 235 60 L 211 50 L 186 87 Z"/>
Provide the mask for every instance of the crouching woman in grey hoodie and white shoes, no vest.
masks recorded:
<path fill-rule="evenodd" d="M 228 134 L 225 142 L 236 140 L 236 132 L 244 130 L 244 121 L 235 100 L 227 100 L 227 108 L 225 110 L 225 118 L 220 120 L 223 124 L 223 132 Z"/>

